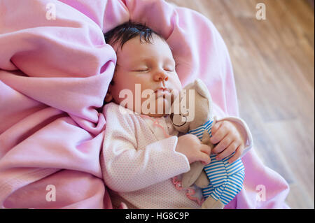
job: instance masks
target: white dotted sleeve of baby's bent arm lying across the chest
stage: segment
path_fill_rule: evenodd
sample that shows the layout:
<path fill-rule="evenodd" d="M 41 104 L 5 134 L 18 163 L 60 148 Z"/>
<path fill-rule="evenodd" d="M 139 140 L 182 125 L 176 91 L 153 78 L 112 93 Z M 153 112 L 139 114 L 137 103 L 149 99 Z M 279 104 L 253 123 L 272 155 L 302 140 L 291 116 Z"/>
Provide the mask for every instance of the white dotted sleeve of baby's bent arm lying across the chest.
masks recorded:
<path fill-rule="evenodd" d="M 136 191 L 190 170 L 186 156 L 176 152 L 176 136 L 138 145 L 135 134 L 145 133 L 136 131 L 129 115 L 107 109 L 101 159 L 104 181 L 114 191 Z"/>

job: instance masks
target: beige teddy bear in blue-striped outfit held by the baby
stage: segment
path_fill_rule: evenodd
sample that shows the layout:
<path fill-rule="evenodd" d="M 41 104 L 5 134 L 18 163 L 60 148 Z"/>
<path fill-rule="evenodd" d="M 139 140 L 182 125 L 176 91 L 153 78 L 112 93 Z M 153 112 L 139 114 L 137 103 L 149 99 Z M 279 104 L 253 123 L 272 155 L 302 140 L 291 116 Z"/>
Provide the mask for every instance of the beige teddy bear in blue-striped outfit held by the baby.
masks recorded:
<path fill-rule="evenodd" d="M 210 137 L 216 117 L 213 117 L 211 103 L 211 95 L 207 86 L 202 80 L 197 79 L 184 87 L 176 97 L 170 118 L 174 128 L 179 132 L 194 134 L 200 138 L 202 143 L 213 149 L 214 145 L 210 142 Z M 188 188 L 195 184 L 202 188 L 204 196 L 202 208 L 224 208 L 241 191 L 245 175 L 244 165 L 241 159 L 230 164 L 228 159 L 233 154 L 221 160 L 215 159 L 216 154 L 210 154 L 210 164 L 204 165 L 201 161 L 196 161 L 190 165 L 190 171 L 183 173 L 182 187 Z"/>

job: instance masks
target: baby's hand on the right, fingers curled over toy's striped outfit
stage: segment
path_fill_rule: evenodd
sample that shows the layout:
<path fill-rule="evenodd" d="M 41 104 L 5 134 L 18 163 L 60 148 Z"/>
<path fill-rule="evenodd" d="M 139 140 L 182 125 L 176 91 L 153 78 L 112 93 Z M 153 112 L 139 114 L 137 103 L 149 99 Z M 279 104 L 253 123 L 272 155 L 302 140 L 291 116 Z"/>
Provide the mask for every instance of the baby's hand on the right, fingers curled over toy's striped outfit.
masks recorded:
<path fill-rule="evenodd" d="M 228 157 L 230 154 L 235 154 L 229 159 L 229 163 L 241 157 L 246 143 L 246 134 L 234 122 L 227 120 L 216 122 L 212 127 L 212 137 L 210 142 L 213 144 L 218 143 L 212 152 L 218 154 L 216 159 L 220 160 Z"/>

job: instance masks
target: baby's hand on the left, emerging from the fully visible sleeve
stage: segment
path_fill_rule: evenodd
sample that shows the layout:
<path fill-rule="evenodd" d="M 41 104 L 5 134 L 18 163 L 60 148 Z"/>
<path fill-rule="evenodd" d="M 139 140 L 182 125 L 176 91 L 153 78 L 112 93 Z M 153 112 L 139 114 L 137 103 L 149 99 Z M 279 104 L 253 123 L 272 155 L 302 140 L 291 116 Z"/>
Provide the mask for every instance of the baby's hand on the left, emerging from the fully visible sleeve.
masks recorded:
<path fill-rule="evenodd" d="M 193 134 L 179 136 L 176 149 L 186 155 L 189 164 L 195 161 L 202 161 L 203 164 L 209 164 L 211 147 L 201 143 L 200 139 Z"/>

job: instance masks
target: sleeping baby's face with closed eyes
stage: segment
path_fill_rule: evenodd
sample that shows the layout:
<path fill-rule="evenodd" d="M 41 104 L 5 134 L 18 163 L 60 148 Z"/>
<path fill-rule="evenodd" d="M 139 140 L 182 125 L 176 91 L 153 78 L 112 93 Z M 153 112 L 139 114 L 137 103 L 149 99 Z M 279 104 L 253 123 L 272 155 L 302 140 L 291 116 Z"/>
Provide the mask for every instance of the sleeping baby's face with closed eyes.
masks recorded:
<path fill-rule="evenodd" d="M 114 101 L 152 117 L 167 115 L 181 90 L 169 45 L 153 34 L 152 43 L 142 43 L 137 36 L 123 48 L 118 44 L 113 48 L 117 52 L 114 85 L 110 89 Z M 123 95 L 120 97 L 120 94 Z"/>

